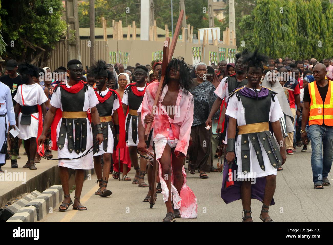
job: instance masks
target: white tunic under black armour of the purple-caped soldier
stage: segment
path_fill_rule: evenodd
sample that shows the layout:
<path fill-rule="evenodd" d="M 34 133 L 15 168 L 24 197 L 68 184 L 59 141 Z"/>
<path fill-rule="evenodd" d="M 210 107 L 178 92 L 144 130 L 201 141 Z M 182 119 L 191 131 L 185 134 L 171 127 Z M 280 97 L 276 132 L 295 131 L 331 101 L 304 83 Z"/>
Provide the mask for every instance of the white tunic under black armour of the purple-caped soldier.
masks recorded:
<path fill-rule="evenodd" d="M 268 95 L 270 96 L 270 95 Z M 274 97 L 275 102 L 271 100 L 271 105 L 270 105 L 270 110 L 269 110 L 269 121 L 270 122 L 276 122 L 278 121 L 282 116 L 283 112 L 280 107 L 280 103 L 277 99 L 277 96 Z M 255 106 L 255 105 L 254 105 Z M 225 112 L 226 115 L 229 117 L 233 117 L 237 119 L 237 125 L 242 126 L 246 125 L 245 123 L 245 113 L 244 113 L 244 108 L 242 101 L 237 99 L 237 97 L 234 95 L 229 99 L 228 102 L 228 107 Z M 275 138 L 274 138 L 275 139 Z M 241 140 L 242 140 L 242 135 L 238 135 L 236 142 L 235 142 L 235 149 L 236 149 L 236 157 L 237 157 L 237 167 L 239 176 L 238 178 L 258 178 L 258 177 L 264 177 L 267 175 L 274 174 L 276 175 L 277 169 L 274 168 L 267 156 L 267 153 L 265 149 L 263 148 L 261 142 L 259 141 L 260 147 L 261 147 L 261 152 L 262 152 L 262 158 L 264 160 L 264 165 L 265 165 L 265 171 L 263 171 L 260 166 L 259 162 L 256 156 L 256 152 L 252 146 L 251 140 L 248 140 L 249 146 L 250 146 L 250 172 L 248 172 L 246 175 L 243 174 L 242 172 L 242 155 L 241 155 Z M 277 142 L 275 142 L 277 146 L 279 145 Z"/>

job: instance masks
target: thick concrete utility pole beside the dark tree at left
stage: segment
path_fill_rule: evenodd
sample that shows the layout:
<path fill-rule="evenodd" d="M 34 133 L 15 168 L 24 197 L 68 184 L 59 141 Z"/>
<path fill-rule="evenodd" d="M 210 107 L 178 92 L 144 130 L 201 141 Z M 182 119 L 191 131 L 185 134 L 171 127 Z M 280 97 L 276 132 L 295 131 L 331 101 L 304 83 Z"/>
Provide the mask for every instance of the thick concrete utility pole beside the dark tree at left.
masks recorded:
<path fill-rule="evenodd" d="M 68 25 L 67 28 L 68 59 L 81 60 L 78 1 L 66 0 L 65 6 L 66 6 L 66 22 Z"/>

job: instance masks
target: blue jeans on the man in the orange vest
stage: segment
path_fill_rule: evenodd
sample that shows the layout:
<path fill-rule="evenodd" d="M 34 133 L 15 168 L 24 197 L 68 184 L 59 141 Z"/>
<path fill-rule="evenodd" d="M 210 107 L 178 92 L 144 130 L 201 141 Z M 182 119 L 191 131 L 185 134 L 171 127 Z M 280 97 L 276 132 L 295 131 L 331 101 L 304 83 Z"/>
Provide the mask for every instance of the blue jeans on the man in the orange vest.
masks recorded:
<path fill-rule="evenodd" d="M 310 125 L 311 167 L 314 184 L 322 184 L 333 162 L 333 127 Z"/>

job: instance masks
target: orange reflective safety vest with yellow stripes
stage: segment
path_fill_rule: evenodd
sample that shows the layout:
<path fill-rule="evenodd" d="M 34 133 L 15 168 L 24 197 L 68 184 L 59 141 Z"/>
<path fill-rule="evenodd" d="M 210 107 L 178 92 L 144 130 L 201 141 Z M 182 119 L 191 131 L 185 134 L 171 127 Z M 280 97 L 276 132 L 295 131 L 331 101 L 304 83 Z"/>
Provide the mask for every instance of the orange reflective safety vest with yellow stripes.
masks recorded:
<path fill-rule="evenodd" d="M 333 126 L 333 81 L 328 81 L 325 103 L 321 99 L 316 81 L 309 83 L 308 87 L 311 98 L 309 125 L 324 123 L 326 126 Z"/>

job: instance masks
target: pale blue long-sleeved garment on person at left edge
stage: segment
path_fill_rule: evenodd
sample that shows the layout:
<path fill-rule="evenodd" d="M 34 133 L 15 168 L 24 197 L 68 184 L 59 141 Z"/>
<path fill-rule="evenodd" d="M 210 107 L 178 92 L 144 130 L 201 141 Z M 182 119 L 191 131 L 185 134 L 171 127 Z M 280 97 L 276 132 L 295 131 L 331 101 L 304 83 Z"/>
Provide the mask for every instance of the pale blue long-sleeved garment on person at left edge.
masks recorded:
<path fill-rule="evenodd" d="M 0 82 L 0 103 L 3 104 L 1 105 L 0 108 L 0 115 L 5 115 L 7 113 L 6 116 L 0 117 L 0 150 L 1 150 L 7 138 L 7 135 L 5 135 L 5 129 L 7 128 L 8 132 L 8 125 L 16 124 L 10 88 L 2 82 Z M 0 163 L 5 163 L 6 162 L 5 158 L 6 154 L 0 153 Z"/>

